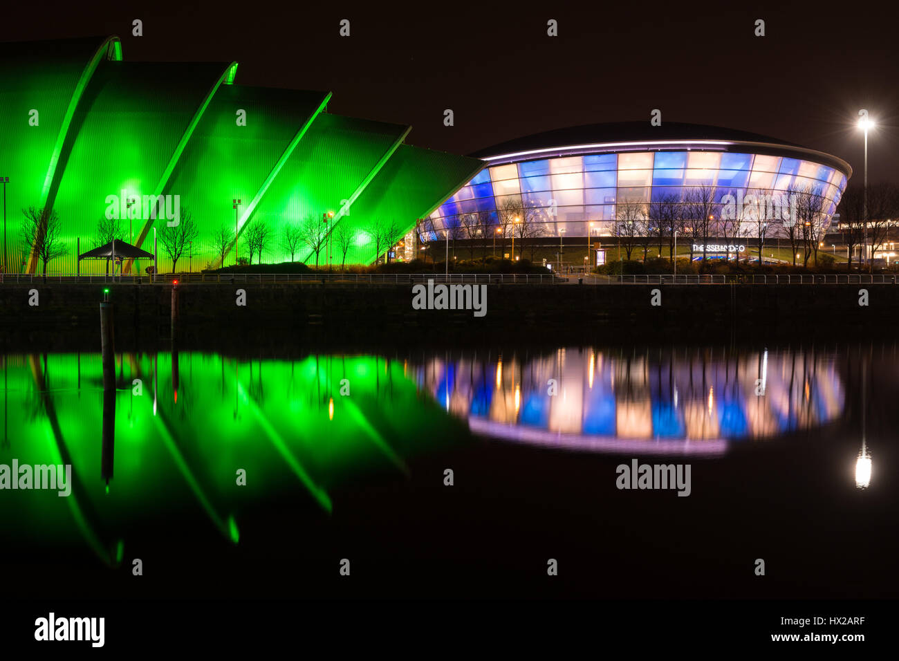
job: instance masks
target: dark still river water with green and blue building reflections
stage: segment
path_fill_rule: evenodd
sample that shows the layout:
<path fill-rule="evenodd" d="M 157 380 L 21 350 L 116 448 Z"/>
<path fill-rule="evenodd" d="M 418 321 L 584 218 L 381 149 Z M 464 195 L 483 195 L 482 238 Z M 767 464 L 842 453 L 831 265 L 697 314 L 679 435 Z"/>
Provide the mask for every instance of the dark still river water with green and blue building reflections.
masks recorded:
<path fill-rule="evenodd" d="M 0 490 L 12 588 L 899 593 L 893 344 L 126 353 L 106 395 L 98 354 L 3 368 L 0 464 L 72 467 L 67 497 Z M 619 489 L 632 460 L 689 464 L 690 495 Z"/>

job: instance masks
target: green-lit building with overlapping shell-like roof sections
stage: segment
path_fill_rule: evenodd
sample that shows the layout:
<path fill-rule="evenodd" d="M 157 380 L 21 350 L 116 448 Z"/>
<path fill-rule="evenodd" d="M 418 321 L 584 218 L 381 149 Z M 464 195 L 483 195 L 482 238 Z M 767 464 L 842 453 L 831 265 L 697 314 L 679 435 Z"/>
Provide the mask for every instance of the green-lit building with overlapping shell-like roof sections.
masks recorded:
<path fill-rule="evenodd" d="M 6 271 L 42 270 L 22 238 L 22 210 L 32 206 L 58 214 L 66 254 L 49 273 L 76 272 L 78 248 L 99 245 L 111 206 L 124 210 L 116 237 L 152 253 L 153 230 L 167 221 L 148 213 L 155 196 L 177 200 L 198 229 L 179 271 L 189 255 L 194 271 L 218 266 L 223 227 L 237 228 L 224 264 L 248 257 L 254 224 L 269 230 L 263 261 L 289 261 L 286 228 L 325 215 L 319 264 L 329 247 L 331 262 L 343 262 L 338 231 L 352 237 L 347 264 L 370 264 L 389 247 L 375 240 L 377 224 L 405 234 L 484 165 L 406 145 L 410 127 L 329 113 L 330 93 L 237 85 L 236 75 L 236 62 L 128 62 L 117 37 L 0 44 Z M 169 271 L 161 243 L 158 258 Z M 314 264 L 316 255 L 300 240 L 294 259 Z M 83 273 L 104 268 L 80 264 Z"/>

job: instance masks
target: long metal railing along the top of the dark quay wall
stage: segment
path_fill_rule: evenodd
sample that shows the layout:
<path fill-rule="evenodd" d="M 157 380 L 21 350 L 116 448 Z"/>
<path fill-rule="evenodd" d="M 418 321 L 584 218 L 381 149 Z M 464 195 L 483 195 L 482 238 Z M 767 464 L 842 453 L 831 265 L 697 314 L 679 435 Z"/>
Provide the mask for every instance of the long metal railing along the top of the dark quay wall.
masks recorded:
<path fill-rule="evenodd" d="M 432 280 L 446 283 L 471 284 L 577 284 L 588 285 L 696 285 L 696 284 L 896 284 L 895 273 L 788 273 L 788 274 L 656 274 L 656 275 L 596 275 L 588 273 L 560 277 L 546 273 L 159 273 L 149 275 L 76 275 L 55 274 L 46 277 L 40 273 L 0 273 L 3 283 L 63 283 L 95 284 L 166 284 L 182 283 L 277 283 L 298 284 L 416 284 Z"/>

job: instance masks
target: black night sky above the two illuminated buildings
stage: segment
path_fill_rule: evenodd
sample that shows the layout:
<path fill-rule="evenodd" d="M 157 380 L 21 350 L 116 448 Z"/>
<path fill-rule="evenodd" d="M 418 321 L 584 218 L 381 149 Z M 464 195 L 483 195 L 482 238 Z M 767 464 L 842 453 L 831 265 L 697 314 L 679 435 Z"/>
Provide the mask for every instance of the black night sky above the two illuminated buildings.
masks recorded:
<path fill-rule="evenodd" d="M 127 60 L 237 60 L 238 84 L 331 90 L 331 112 L 411 124 L 407 142 L 462 154 L 565 126 L 648 127 L 658 108 L 663 121 L 841 156 L 860 181 L 855 121 L 867 108 L 878 123 L 870 181 L 899 181 L 899 49 L 886 3 L 131 6 L 7 4 L 0 40 L 118 34 Z M 143 37 L 131 36 L 135 18 Z M 443 126 L 447 108 L 454 127 Z"/>

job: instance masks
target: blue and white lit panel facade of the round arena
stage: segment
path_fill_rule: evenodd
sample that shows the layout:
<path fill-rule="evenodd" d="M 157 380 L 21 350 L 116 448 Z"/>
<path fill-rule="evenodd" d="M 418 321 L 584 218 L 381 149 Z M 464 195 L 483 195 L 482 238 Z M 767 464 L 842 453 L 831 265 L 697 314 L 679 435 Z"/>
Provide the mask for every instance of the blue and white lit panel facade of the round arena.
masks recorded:
<path fill-rule="evenodd" d="M 835 168 L 788 156 L 740 152 L 659 151 L 588 154 L 493 165 L 485 168 L 432 214 L 435 228 L 458 214 L 485 212 L 497 222 L 504 201 L 516 201 L 534 221 L 545 222 L 546 235 L 608 236 L 619 205 L 652 212 L 652 202 L 687 204 L 691 187 L 708 186 L 716 204 L 730 195 L 781 194 L 805 187 L 826 199 L 832 214 L 846 187 Z M 686 207 L 683 209 L 686 210 Z M 601 222 L 600 222 L 601 221 Z"/>

